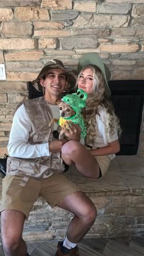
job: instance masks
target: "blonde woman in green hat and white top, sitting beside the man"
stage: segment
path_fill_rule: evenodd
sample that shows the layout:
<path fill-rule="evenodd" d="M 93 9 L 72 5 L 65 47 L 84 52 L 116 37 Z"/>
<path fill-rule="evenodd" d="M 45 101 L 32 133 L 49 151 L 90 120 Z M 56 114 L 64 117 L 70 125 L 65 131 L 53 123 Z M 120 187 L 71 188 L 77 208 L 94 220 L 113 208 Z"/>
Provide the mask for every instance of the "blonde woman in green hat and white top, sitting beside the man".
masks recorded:
<path fill-rule="evenodd" d="M 76 168 L 82 175 L 90 178 L 96 178 L 97 175 L 97 178 L 99 178 L 106 174 L 110 161 L 115 157 L 115 153 L 120 151 L 118 140 L 120 124 L 109 100 L 111 93 L 107 81 L 110 79 L 110 71 L 96 53 L 85 54 L 79 60 L 78 71 L 76 87 L 88 94 L 84 117 L 87 122 L 85 145 L 88 149 L 86 159 L 89 164 L 89 171 L 84 171 L 84 163 L 81 164 L 80 161 L 79 166 L 76 166 Z M 70 141 L 70 143 L 72 144 L 73 142 Z M 63 148 L 67 148 L 68 144 L 69 142 Z M 71 145 L 71 148 L 74 147 L 74 144 Z M 71 152 L 73 149 L 70 149 L 70 147 L 65 152 L 63 148 L 63 158 L 65 158 L 66 152 L 67 154 L 70 152 L 70 154 L 74 155 Z M 78 145 L 77 148 L 79 148 Z M 92 158 L 90 159 L 89 153 L 94 156 L 93 161 Z M 84 154 L 84 161 L 85 152 L 82 151 L 82 148 L 77 149 L 77 157 L 81 158 L 82 154 Z M 69 157 L 67 156 L 65 161 L 71 164 L 71 161 L 67 161 L 68 158 L 70 160 L 70 155 Z M 73 162 L 76 163 L 75 161 Z"/>

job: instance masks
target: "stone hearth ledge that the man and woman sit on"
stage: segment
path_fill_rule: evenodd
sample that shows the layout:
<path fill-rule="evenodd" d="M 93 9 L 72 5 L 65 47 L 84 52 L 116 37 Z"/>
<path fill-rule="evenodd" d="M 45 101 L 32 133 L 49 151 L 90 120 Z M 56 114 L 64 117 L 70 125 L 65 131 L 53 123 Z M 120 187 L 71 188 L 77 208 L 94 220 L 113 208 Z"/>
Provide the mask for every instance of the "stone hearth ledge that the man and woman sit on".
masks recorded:
<path fill-rule="evenodd" d="M 143 166 L 144 159 L 139 156 L 117 156 L 99 180 L 82 177 L 74 167 L 65 174 L 90 197 L 98 210 L 87 236 L 144 235 Z M 38 198 L 24 224 L 24 240 L 62 239 L 71 218 L 73 214 L 58 207 L 52 209 Z"/>

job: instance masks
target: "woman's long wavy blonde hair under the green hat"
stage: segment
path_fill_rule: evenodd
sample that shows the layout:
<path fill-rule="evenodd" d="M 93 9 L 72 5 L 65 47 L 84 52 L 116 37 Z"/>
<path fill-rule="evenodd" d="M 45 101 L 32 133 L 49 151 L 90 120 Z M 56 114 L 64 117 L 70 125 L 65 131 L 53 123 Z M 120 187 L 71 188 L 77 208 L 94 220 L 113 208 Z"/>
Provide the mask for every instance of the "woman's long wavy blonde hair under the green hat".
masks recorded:
<path fill-rule="evenodd" d="M 86 144 L 92 145 L 93 138 L 96 136 L 96 114 L 98 113 L 98 106 L 104 106 L 107 111 L 107 123 L 106 123 L 106 130 L 108 134 L 114 134 L 115 128 L 117 127 L 118 133 L 120 135 L 121 128 L 120 122 L 115 115 L 115 111 L 113 109 L 113 104 L 107 98 L 105 93 L 105 79 L 101 70 L 94 65 L 87 65 L 84 67 L 83 70 L 77 76 L 76 87 L 81 76 L 82 71 L 85 68 L 91 68 L 93 70 L 93 95 L 88 96 L 87 98 L 87 107 L 84 109 L 84 119 L 87 122 L 87 137 L 86 137 Z"/>

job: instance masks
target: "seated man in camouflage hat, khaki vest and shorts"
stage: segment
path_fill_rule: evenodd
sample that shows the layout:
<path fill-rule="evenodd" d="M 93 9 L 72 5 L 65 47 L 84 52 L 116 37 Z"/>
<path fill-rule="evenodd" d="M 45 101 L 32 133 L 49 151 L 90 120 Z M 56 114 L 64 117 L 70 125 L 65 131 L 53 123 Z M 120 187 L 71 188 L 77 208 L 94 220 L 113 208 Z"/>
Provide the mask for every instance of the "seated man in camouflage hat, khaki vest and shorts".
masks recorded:
<path fill-rule="evenodd" d="M 59 140 L 53 136 L 56 128 L 48 125 L 52 118 L 59 117 L 57 102 L 63 91 L 74 86 L 74 80 L 74 74 L 60 60 L 49 61 L 33 82 L 37 89 L 44 91 L 44 96 L 24 101 L 13 118 L 0 208 L 1 238 L 6 256 L 28 255 L 22 238 L 23 225 L 38 196 L 51 207 L 57 206 L 74 214 L 65 240 L 58 243 L 56 256 L 79 255 L 77 243 L 95 221 L 93 203 L 62 174 L 65 170 L 63 159 L 68 164 L 81 166 L 77 152 L 71 159 L 65 150 L 62 152 L 63 145 L 70 142 L 79 145 L 81 130 L 78 125 L 70 126 L 66 131 L 68 139 Z M 87 150 L 80 147 L 86 156 Z"/>

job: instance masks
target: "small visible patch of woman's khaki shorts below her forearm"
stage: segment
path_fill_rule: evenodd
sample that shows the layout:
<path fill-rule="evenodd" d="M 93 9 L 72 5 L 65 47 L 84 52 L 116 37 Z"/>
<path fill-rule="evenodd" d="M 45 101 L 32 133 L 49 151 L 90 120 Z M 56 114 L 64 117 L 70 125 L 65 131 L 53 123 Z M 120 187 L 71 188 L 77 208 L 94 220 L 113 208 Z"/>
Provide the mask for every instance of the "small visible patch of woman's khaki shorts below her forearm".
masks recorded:
<path fill-rule="evenodd" d="M 110 165 L 110 158 L 109 156 L 95 156 L 96 160 L 98 161 L 99 168 L 101 169 L 101 174 L 104 176 L 107 170 L 109 169 Z"/>

